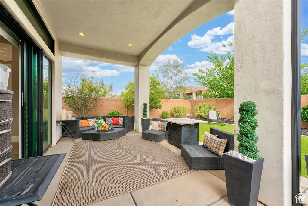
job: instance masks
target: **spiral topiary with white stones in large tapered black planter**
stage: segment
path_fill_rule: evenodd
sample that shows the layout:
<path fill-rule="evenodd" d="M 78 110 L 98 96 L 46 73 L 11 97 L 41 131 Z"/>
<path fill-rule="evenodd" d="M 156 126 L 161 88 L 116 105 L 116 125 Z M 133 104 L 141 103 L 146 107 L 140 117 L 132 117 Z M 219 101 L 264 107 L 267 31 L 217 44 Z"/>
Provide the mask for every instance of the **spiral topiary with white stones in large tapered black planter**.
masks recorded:
<path fill-rule="evenodd" d="M 264 159 L 259 157 L 255 130 L 258 121 L 257 105 L 251 101 L 241 103 L 238 112 L 239 145 L 236 150 L 223 154 L 229 204 L 257 205 Z"/>

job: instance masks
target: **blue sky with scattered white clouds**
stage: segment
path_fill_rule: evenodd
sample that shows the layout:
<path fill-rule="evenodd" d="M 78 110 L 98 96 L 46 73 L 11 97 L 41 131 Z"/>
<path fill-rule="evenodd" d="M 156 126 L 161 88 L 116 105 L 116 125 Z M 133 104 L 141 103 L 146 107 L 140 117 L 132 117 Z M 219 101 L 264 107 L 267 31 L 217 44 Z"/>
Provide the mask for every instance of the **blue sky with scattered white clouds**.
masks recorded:
<path fill-rule="evenodd" d="M 308 27 L 308 1 L 301 2 L 302 31 L 303 28 Z M 184 84 L 201 86 L 194 81 L 192 74 L 198 72 L 198 68 L 205 69 L 212 66 L 207 58 L 210 55 L 210 50 L 217 54 L 231 51 L 230 47 L 222 47 L 222 45 L 227 45 L 229 41 L 233 42 L 233 23 L 234 15 L 233 11 L 230 11 L 184 35 L 157 57 L 150 67 L 150 74 L 155 73 L 155 70 L 162 66 L 164 62 L 177 59 L 183 62 L 184 70 L 191 76 L 191 80 Z M 307 45 L 308 36 L 301 42 L 302 63 L 308 62 Z M 113 83 L 113 92 L 118 94 L 128 84 L 128 81 L 134 80 L 133 67 L 63 57 L 63 76 L 67 80 L 70 80 L 76 74 L 90 71 L 95 71 L 93 75 L 95 78 L 103 77 L 108 86 Z"/>

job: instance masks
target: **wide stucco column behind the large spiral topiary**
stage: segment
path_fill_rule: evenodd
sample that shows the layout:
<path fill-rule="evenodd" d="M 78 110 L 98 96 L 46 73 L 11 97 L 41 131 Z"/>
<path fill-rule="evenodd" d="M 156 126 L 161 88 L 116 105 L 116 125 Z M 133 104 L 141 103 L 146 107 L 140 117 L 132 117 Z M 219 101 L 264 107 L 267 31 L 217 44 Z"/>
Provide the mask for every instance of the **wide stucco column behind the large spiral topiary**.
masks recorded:
<path fill-rule="evenodd" d="M 291 8 L 289 0 L 234 2 L 234 134 L 240 103 L 254 101 L 266 205 L 292 204 Z"/>

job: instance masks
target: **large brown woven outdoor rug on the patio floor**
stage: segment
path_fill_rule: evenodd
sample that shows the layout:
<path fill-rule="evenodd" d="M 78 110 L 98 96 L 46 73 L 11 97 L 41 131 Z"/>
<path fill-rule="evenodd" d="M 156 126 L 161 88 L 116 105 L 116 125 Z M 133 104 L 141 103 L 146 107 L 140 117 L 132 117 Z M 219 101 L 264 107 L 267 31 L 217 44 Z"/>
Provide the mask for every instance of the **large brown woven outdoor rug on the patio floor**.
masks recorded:
<path fill-rule="evenodd" d="M 189 172 L 183 158 L 141 135 L 76 142 L 53 205 L 87 205 Z"/>

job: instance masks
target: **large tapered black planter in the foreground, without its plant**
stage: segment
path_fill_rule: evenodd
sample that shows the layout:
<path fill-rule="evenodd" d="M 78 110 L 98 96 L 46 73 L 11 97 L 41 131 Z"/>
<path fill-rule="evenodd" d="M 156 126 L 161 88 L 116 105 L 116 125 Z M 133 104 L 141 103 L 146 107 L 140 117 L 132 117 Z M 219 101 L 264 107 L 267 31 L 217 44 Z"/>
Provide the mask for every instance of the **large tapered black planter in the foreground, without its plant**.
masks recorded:
<path fill-rule="evenodd" d="M 229 204 L 257 205 L 264 158 L 253 163 L 223 154 Z"/>

